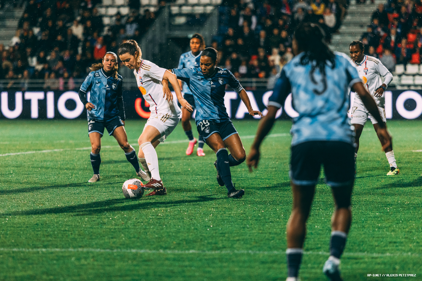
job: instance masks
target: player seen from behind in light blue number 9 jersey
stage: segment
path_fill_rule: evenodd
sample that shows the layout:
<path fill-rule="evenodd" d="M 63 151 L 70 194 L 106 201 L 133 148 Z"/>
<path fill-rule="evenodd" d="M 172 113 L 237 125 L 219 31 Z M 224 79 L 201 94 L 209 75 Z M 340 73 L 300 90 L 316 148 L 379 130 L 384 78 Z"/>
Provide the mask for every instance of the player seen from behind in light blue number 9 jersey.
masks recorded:
<path fill-rule="evenodd" d="M 323 272 L 332 281 L 342 280 L 338 265 L 352 222 L 350 205 L 355 174 L 354 134 L 347 117 L 349 87 L 379 121 L 382 128 L 377 134 L 385 140 L 383 149 L 391 143 L 376 103 L 363 86 L 357 70 L 345 54 L 333 54 L 323 38 L 324 32 L 316 24 L 303 24 L 296 30 L 292 42 L 296 56 L 281 70 L 268 102 L 268 113 L 259 125 L 247 160 L 250 171 L 252 166 L 257 168 L 260 144 L 273 126 L 277 110 L 292 93 L 293 107 L 299 116 L 293 118 L 290 131 L 293 136 L 290 155 L 293 208 L 287 223 L 287 281 L 298 280 L 306 220 L 321 165 L 335 202 L 330 257 Z"/>

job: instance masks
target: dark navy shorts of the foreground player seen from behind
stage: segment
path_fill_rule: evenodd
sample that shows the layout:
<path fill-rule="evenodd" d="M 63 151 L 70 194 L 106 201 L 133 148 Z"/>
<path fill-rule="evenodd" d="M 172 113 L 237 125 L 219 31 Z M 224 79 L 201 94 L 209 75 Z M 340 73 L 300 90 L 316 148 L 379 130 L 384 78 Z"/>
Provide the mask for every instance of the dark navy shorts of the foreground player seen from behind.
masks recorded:
<path fill-rule="evenodd" d="M 354 181 L 354 147 L 346 142 L 311 141 L 292 146 L 290 178 L 295 185 L 316 185 L 321 164 L 325 182 L 339 187 Z"/>

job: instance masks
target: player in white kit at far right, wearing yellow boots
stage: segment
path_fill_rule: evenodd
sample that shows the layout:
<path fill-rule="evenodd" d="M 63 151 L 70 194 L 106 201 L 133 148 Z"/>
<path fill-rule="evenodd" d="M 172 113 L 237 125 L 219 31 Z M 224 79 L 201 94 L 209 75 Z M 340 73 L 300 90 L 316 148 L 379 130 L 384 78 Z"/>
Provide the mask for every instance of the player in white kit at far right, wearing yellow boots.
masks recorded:
<path fill-rule="evenodd" d="M 354 62 L 354 66 L 356 67 L 360 78 L 362 78 L 363 84 L 368 89 L 369 93 L 375 100 L 376 105 L 378 106 L 382 121 L 386 123 L 387 120 L 385 117 L 384 108 L 384 91 L 393 79 L 393 75 L 390 73 L 390 71 L 387 70 L 387 67 L 385 67 L 379 61 L 379 59 L 363 54 L 364 46 L 362 42 L 353 41 L 350 43 L 349 51 L 350 57 Z M 381 76 L 384 77 L 384 83 L 382 83 Z M 379 125 L 375 118 L 373 118 L 373 116 L 368 112 L 365 105 L 363 105 L 362 100 L 358 95 L 354 97 L 354 102 L 350 113 L 352 114 L 351 123 L 354 126 L 354 131 L 356 133 L 356 149 L 354 153 L 354 158 L 356 160 L 357 150 L 359 149 L 359 138 L 362 134 L 363 126 L 365 126 L 366 120 L 368 120 L 368 117 L 371 119 L 373 128 L 377 134 Z M 384 145 L 382 141 L 381 144 Z M 387 173 L 387 175 L 391 176 L 398 174 L 400 170 L 398 169 L 394 158 L 392 144 L 385 150 L 385 156 L 387 157 L 388 163 L 390 163 L 390 171 Z"/>

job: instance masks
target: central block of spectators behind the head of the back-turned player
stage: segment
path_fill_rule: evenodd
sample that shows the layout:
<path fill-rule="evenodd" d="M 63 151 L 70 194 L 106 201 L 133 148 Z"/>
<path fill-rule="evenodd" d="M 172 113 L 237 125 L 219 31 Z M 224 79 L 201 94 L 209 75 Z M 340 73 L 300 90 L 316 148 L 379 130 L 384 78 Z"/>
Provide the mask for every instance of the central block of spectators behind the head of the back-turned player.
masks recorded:
<path fill-rule="evenodd" d="M 249 2 L 249 1 L 248 1 Z M 220 67 L 240 78 L 269 78 L 292 59 L 292 35 L 303 22 L 318 23 L 326 41 L 338 31 L 348 1 L 252 0 L 226 1 L 220 7 L 220 30 L 212 43 Z"/>

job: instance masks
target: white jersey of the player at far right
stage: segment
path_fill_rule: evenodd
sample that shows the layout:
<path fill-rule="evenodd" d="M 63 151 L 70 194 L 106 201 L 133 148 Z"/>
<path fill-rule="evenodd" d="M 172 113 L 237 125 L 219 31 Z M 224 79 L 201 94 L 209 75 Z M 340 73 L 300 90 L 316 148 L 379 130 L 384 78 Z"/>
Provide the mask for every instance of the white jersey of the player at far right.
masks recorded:
<path fill-rule="evenodd" d="M 393 79 L 391 72 L 388 71 L 387 67 L 385 67 L 379 59 L 374 58 L 373 56 L 364 55 L 362 62 L 359 64 L 353 62 L 353 65 L 356 67 L 359 77 L 362 78 L 363 85 L 368 89 L 369 94 L 371 94 L 373 99 L 375 99 L 376 105 L 384 107 L 384 94 L 380 97 L 375 97 L 374 92 L 383 84 L 381 76 L 384 77 L 385 85 L 388 86 L 388 84 L 390 84 Z M 359 95 L 355 95 L 354 101 L 363 104 Z"/>

